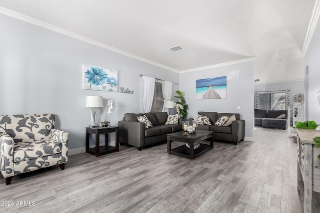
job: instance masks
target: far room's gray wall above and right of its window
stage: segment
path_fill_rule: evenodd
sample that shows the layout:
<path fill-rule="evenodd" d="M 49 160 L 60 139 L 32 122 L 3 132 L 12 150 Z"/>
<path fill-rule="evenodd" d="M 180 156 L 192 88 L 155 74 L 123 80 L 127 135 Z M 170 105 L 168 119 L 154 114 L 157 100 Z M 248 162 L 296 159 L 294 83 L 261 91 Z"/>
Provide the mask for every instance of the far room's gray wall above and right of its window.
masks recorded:
<path fill-rule="evenodd" d="M 290 106 L 295 106 L 293 96 L 297 93 L 304 94 L 304 81 L 290 81 L 270 84 L 254 84 L 254 91 L 274 91 L 289 89 Z"/>

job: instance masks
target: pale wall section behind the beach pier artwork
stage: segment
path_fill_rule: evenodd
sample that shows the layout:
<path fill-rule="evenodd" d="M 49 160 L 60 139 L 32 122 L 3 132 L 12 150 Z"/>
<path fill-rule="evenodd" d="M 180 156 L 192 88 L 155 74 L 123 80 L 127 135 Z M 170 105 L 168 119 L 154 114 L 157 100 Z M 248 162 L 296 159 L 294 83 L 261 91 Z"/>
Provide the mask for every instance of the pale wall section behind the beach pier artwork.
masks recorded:
<path fill-rule="evenodd" d="M 189 105 L 188 118 L 197 116 L 198 111 L 218 113 L 239 113 L 245 120 L 245 140 L 253 141 L 253 97 L 254 62 L 244 62 L 193 72 L 180 73 L 180 87 L 186 103 Z M 227 76 L 225 99 L 195 99 L 195 81 L 197 79 Z M 237 109 L 237 106 L 240 109 Z"/>

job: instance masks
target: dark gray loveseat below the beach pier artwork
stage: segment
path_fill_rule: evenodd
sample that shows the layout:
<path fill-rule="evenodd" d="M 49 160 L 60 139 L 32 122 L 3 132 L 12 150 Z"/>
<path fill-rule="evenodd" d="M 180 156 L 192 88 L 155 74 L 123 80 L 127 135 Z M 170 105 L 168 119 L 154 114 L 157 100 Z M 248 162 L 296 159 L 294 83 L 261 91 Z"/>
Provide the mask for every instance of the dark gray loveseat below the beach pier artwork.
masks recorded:
<path fill-rule="evenodd" d="M 213 131 L 214 140 L 229 141 L 237 145 L 239 141 L 244 139 L 245 121 L 240 120 L 240 114 L 217 112 L 198 112 L 198 114 L 209 117 L 211 125 L 198 125 L 197 129 Z M 215 126 L 214 123 L 224 115 L 229 117 L 235 115 L 236 120 L 230 126 Z"/>

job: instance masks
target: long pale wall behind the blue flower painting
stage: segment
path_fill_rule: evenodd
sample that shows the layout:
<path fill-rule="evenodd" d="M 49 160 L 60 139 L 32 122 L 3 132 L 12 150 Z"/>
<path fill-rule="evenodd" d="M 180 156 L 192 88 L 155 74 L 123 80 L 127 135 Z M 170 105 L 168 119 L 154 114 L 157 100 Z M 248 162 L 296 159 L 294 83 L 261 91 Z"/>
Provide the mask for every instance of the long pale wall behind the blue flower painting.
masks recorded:
<path fill-rule="evenodd" d="M 140 76 L 178 82 L 178 73 L 86 42 L 0 15 L 0 114 L 54 113 L 56 128 L 69 132 L 69 150 L 84 152 L 85 127 L 90 111 L 85 96 L 113 100 L 111 125 L 124 113 L 140 112 Z M 98 30 L 97 30 L 98 33 Z M 118 70 L 118 87 L 133 94 L 82 89 L 82 64 Z M 172 96 L 178 90 L 173 84 Z M 98 109 L 96 122 L 105 107 Z"/>

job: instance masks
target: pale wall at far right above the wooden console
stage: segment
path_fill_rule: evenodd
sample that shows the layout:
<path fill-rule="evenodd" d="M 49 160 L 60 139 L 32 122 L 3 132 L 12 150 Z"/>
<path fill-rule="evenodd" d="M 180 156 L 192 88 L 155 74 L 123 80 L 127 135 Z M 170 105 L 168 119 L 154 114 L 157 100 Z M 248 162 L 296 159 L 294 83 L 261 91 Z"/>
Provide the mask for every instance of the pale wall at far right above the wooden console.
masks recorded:
<path fill-rule="evenodd" d="M 307 53 L 305 55 L 305 70 L 308 70 L 308 120 L 320 124 L 320 94 L 315 94 L 320 89 L 320 21 L 312 35 Z"/>

